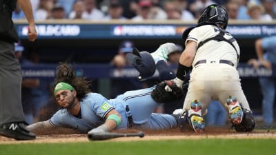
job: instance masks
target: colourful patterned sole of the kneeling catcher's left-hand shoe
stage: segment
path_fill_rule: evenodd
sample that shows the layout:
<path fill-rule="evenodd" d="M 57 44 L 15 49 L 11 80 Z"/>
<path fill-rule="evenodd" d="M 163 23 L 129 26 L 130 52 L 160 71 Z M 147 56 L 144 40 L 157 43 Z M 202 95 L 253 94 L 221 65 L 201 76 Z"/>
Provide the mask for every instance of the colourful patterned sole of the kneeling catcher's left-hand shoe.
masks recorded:
<path fill-rule="evenodd" d="M 197 100 L 190 103 L 190 110 L 188 110 L 188 121 L 195 132 L 204 132 L 205 121 L 201 114 L 201 103 Z"/>

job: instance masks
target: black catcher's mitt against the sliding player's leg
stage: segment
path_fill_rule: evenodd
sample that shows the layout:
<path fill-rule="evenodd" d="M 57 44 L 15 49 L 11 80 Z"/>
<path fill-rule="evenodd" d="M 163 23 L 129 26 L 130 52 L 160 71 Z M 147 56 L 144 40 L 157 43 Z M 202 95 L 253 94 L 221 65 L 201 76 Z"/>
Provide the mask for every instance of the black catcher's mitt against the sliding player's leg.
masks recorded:
<path fill-rule="evenodd" d="M 166 85 L 172 89 L 171 92 L 167 92 L 165 90 Z M 184 94 L 184 90 L 181 87 L 177 87 L 173 81 L 163 81 L 159 83 L 151 92 L 152 99 L 154 99 L 157 103 L 177 101 L 181 99 Z"/>

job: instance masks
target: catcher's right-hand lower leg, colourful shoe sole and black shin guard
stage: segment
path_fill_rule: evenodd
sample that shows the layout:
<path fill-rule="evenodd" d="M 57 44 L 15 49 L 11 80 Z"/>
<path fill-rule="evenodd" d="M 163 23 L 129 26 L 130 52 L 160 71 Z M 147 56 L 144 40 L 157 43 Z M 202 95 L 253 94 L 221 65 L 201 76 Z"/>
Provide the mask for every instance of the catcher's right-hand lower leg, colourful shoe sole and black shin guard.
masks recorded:
<path fill-rule="evenodd" d="M 233 96 L 227 99 L 230 121 L 236 132 L 252 132 L 255 128 L 253 112 L 239 104 Z"/>

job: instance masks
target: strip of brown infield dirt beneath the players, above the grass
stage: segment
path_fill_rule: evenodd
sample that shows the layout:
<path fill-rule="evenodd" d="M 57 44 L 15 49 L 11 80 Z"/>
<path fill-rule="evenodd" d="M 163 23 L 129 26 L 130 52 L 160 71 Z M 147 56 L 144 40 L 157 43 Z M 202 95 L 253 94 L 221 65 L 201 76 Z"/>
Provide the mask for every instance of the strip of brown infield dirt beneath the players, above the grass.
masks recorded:
<path fill-rule="evenodd" d="M 120 131 L 137 132 L 135 130 Z M 193 132 L 180 132 L 179 130 L 165 130 L 165 131 L 144 131 L 144 138 L 139 137 L 124 137 L 124 138 L 112 138 L 105 141 L 158 141 L 158 140 L 177 140 L 177 139 L 199 139 L 199 138 L 273 138 L 276 139 L 275 131 L 254 131 L 250 133 L 236 133 L 233 130 L 228 129 L 208 129 L 203 134 L 197 134 Z M 37 134 L 37 139 L 34 141 L 15 141 L 12 138 L 6 138 L 0 136 L 1 144 L 15 144 L 15 143 L 76 143 L 76 142 L 88 142 L 86 134 Z"/>

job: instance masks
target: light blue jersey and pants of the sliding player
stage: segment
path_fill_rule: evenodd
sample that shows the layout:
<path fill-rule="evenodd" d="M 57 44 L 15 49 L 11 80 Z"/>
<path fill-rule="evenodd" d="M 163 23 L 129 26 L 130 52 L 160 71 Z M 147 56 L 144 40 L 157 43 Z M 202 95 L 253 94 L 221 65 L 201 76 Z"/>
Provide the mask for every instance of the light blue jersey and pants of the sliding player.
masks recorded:
<path fill-rule="evenodd" d="M 128 116 L 132 115 L 133 126 L 142 129 L 164 130 L 177 126 L 177 121 L 170 114 L 153 114 L 157 107 L 150 96 L 154 87 L 133 90 L 117 96 L 115 99 L 106 99 L 98 93 L 89 93 L 81 101 L 81 117 L 77 118 L 67 109 L 57 111 L 50 123 L 55 127 L 70 127 L 79 132 L 89 132 L 105 122 L 104 117 L 110 110 L 117 110 L 121 114 L 122 122 L 117 129 L 128 127 Z M 126 112 L 126 105 L 130 111 Z"/>

